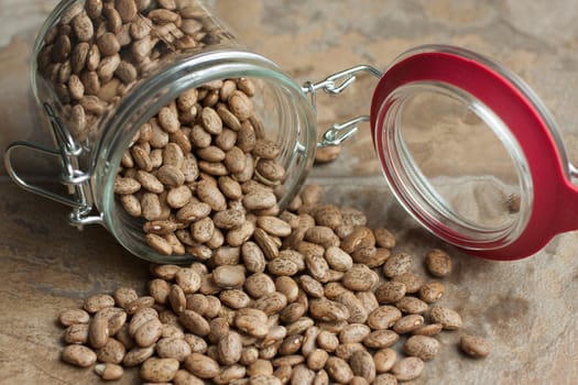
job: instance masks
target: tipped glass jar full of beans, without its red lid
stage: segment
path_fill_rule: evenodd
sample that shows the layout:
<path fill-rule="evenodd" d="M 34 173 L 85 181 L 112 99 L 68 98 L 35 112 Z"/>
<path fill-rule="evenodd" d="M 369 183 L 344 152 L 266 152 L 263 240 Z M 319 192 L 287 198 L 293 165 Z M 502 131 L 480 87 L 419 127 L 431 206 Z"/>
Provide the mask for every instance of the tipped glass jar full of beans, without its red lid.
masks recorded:
<path fill-rule="evenodd" d="M 314 158 L 302 88 L 199 1 L 63 1 L 37 37 L 32 84 L 57 150 L 32 148 L 62 158 L 73 194 L 14 179 L 146 260 L 206 257 L 246 212 L 286 206 Z"/>

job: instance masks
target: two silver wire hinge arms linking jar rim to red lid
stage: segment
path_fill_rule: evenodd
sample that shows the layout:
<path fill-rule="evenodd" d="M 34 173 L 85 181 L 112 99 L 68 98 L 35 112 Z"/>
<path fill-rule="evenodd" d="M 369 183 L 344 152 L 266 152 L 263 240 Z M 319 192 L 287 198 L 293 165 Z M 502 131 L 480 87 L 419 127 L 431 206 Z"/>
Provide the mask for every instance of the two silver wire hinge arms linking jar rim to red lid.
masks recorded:
<path fill-rule="evenodd" d="M 312 105 L 315 108 L 317 105 L 316 92 L 320 89 L 326 94 L 338 95 L 341 94 L 347 87 L 349 87 L 355 80 L 359 73 L 369 73 L 377 78 L 381 78 L 383 75 L 379 69 L 369 65 L 359 65 L 348 69 L 340 70 L 332 75 L 329 75 L 325 79 L 318 82 L 306 81 L 302 90 L 305 94 L 309 94 L 312 98 Z M 351 138 L 358 130 L 357 124 L 360 122 L 369 121 L 369 116 L 359 116 L 343 123 L 335 123 L 329 130 L 327 130 L 321 141 L 317 143 L 317 147 L 326 147 L 329 145 L 339 145 L 349 138 Z"/>

